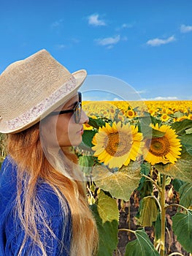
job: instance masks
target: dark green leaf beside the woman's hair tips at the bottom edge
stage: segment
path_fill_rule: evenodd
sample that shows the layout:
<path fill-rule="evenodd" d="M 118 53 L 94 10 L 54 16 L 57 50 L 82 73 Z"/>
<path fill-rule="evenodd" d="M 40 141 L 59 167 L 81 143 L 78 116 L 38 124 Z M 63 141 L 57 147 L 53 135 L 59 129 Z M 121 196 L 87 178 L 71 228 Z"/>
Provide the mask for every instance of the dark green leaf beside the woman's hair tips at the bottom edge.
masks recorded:
<path fill-rule="evenodd" d="M 112 252 L 118 246 L 118 221 L 114 219 L 111 222 L 103 223 L 96 204 L 91 206 L 91 210 L 99 232 L 99 252 L 97 256 L 112 256 Z"/>

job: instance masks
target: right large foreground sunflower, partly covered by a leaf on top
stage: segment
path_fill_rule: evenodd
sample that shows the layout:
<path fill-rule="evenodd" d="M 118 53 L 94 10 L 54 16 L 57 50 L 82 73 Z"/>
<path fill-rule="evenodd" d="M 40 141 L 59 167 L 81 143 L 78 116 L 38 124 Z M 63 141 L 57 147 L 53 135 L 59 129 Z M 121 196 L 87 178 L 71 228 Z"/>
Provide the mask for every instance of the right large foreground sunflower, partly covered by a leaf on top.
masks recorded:
<path fill-rule="evenodd" d="M 177 158 L 180 158 L 181 143 L 174 132 L 174 129 L 167 125 L 158 127 L 152 125 L 153 129 L 160 132 L 164 132 L 164 135 L 159 138 L 152 138 L 145 140 L 145 146 L 143 148 L 144 159 L 150 162 L 152 165 L 162 162 L 164 164 L 168 162 L 177 162 Z"/>

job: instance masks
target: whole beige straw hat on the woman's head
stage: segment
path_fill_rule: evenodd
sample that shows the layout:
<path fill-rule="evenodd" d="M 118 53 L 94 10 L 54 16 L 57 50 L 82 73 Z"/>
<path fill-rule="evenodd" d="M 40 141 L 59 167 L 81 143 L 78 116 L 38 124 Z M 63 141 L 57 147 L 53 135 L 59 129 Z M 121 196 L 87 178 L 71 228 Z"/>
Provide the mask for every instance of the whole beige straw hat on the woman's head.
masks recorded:
<path fill-rule="evenodd" d="M 0 75 L 0 132 L 20 132 L 64 104 L 87 72 L 70 73 L 47 50 L 16 61 Z"/>

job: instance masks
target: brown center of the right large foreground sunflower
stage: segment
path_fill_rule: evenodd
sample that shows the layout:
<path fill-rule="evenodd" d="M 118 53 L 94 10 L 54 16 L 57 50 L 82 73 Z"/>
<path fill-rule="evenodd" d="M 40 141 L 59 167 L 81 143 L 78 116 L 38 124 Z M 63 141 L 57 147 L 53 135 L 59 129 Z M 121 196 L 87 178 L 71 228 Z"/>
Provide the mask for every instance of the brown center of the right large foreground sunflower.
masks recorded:
<path fill-rule="evenodd" d="M 153 138 L 150 144 L 150 153 L 156 157 L 163 157 L 170 151 L 169 140 L 166 137 Z"/>

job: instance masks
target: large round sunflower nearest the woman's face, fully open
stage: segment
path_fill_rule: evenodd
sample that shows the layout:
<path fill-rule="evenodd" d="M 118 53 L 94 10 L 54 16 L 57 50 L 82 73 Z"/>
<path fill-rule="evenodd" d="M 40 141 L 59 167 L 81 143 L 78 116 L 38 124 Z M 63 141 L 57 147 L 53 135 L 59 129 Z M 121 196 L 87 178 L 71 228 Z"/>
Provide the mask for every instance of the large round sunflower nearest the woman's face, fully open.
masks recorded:
<path fill-rule="evenodd" d="M 112 123 L 112 127 L 110 124 L 99 127 L 92 143 L 94 156 L 110 168 L 128 165 L 142 153 L 142 133 L 138 132 L 138 127 L 121 124 L 120 121 Z"/>

